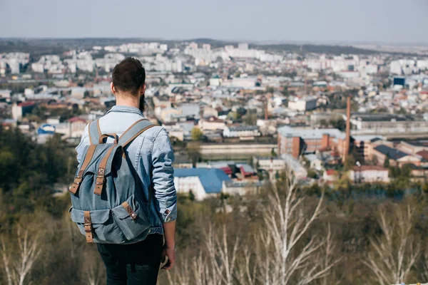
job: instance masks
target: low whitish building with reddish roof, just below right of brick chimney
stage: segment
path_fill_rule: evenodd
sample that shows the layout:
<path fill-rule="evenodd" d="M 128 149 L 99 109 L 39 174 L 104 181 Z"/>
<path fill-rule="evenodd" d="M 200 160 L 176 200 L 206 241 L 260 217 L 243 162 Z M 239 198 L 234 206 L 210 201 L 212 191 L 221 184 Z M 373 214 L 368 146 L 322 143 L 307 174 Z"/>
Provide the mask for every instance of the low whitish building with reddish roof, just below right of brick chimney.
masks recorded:
<path fill-rule="evenodd" d="M 349 175 L 357 183 L 389 182 L 389 170 L 379 165 L 355 165 Z"/>

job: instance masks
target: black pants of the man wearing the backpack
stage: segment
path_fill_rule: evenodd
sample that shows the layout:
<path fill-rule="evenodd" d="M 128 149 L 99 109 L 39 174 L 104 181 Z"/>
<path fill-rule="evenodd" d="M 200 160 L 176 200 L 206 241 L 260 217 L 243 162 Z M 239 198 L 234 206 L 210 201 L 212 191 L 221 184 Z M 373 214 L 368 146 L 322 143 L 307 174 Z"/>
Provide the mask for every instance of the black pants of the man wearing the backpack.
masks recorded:
<path fill-rule="evenodd" d="M 155 285 L 163 236 L 149 234 L 136 244 L 98 244 L 107 271 L 107 285 Z"/>

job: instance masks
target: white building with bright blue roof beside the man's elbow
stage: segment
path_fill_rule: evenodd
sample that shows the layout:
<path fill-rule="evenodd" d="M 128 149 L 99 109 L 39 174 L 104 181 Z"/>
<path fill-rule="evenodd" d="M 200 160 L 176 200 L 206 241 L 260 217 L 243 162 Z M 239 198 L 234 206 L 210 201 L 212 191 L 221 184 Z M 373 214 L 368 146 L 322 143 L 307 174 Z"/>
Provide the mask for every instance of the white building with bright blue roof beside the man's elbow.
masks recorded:
<path fill-rule="evenodd" d="M 177 168 L 174 170 L 174 185 L 178 193 L 192 192 L 198 201 L 215 197 L 222 192 L 223 182 L 230 177 L 216 168 Z"/>

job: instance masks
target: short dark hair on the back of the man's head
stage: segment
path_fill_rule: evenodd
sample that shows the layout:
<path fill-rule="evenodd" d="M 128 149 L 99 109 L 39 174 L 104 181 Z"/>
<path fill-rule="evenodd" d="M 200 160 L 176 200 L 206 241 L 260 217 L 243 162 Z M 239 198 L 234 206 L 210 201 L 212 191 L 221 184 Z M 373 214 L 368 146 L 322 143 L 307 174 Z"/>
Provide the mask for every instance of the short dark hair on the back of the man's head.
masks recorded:
<path fill-rule="evenodd" d="M 146 81 L 146 71 L 136 58 L 125 58 L 113 68 L 113 85 L 117 90 L 138 95 Z"/>

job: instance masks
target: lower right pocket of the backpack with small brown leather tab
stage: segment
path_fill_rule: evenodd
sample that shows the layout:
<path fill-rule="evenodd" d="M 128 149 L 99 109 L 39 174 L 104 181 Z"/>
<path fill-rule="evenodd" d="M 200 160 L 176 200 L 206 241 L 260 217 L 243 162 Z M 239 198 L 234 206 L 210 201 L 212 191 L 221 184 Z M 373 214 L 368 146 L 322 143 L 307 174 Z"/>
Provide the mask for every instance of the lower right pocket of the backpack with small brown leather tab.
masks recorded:
<path fill-rule="evenodd" d="M 126 239 L 129 241 L 137 238 L 142 240 L 146 238 L 150 229 L 147 204 L 138 202 L 134 195 L 131 195 L 126 203 L 128 209 L 123 204 L 111 209 L 113 219 L 121 228 Z"/>

